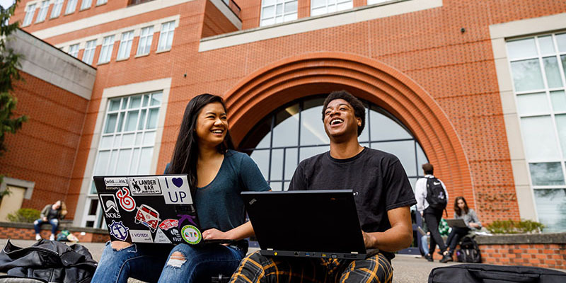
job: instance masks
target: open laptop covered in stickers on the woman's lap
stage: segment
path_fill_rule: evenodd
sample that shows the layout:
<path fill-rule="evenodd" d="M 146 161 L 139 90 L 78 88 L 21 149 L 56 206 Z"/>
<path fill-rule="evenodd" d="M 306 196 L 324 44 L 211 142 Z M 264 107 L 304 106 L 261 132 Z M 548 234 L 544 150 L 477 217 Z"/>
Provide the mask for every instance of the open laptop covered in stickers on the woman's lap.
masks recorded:
<path fill-rule="evenodd" d="M 202 241 L 187 175 L 94 176 L 111 241 L 129 243 L 230 243 Z"/>

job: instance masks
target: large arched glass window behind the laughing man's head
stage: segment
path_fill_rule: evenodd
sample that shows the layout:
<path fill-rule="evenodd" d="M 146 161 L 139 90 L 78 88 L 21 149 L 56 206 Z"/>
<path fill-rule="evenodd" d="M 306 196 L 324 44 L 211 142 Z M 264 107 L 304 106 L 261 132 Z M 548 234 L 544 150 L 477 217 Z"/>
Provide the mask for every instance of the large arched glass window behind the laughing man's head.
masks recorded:
<path fill-rule="evenodd" d="M 287 190 L 296 166 L 305 158 L 330 149 L 322 122 L 325 96 L 312 96 L 278 108 L 258 122 L 240 144 L 250 154 L 272 190 Z M 389 112 L 363 101 L 366 127 L 358 140 L 362 146 L 395 154 L 413 186 L 427 163 L 420 144 Z"/>

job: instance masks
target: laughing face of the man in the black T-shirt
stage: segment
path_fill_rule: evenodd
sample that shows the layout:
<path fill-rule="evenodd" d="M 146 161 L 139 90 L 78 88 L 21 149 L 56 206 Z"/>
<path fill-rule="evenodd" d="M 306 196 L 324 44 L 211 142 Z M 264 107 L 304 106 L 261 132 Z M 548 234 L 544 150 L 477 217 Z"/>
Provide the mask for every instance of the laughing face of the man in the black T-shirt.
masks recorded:
<path fill-rule="evenodd" d="M 356 138 L 357 128 L 362 120 L 354 114 L 354 108 L 343 99 L 335 99 L 328 103 L 324 110 L 324 129 L 331 141 Z"/>

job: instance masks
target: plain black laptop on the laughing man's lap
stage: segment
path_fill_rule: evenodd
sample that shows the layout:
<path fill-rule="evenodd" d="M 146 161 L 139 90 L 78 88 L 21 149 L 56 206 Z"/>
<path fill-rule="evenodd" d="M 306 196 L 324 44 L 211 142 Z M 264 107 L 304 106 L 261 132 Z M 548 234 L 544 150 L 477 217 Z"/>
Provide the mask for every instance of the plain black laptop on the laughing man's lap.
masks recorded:
<path fill-rule="evenodd" d="M 241 195 L 262 255 L 350 260 L 368 255 L 352 190 Z"/>

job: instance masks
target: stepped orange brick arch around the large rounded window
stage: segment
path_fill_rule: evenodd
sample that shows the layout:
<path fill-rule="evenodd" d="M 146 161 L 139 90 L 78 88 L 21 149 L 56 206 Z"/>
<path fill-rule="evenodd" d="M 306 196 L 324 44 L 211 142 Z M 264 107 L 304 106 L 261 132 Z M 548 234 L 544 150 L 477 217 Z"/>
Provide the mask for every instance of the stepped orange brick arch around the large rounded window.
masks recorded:
<path fill-rule="evenodd" d="M 371 58 L 317 52 L 282 59 L 255 71 L 224 95 L 231 135 L 239 144 L 254 125 L 280 105 L 342 89 L 401 120 L 419 141 L 449 193 L 463 195 L 474 207 L 470 168 L 449 118 L 410 77 Z"/>

